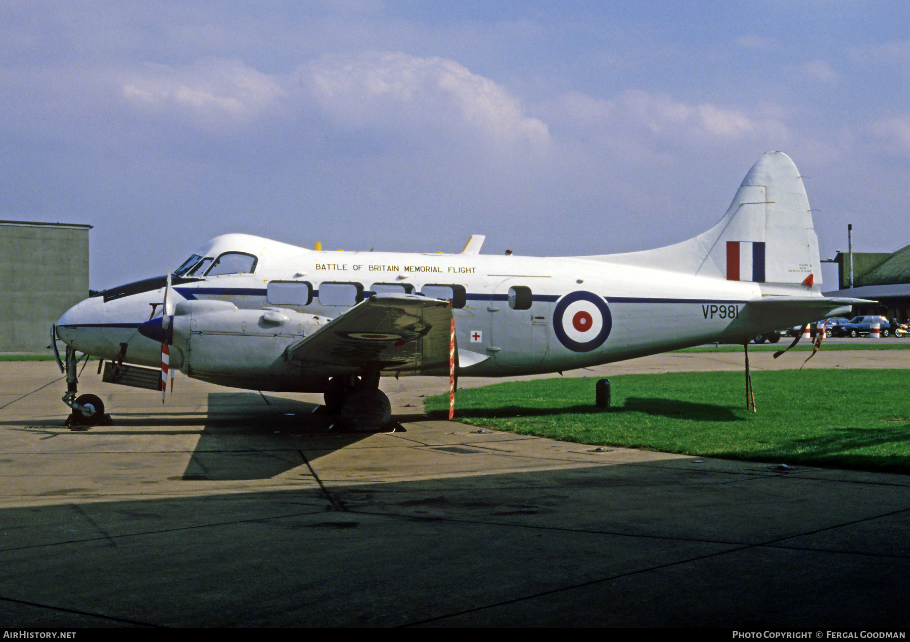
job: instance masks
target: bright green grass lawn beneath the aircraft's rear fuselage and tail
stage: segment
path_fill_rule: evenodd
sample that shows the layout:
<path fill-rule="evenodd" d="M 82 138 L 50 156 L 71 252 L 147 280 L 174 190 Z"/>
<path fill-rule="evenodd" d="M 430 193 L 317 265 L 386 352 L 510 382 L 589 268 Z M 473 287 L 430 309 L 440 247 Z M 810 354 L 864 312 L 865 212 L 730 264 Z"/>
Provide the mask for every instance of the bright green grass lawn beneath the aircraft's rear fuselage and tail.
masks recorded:
<path fill-rule="evenodd" d="M 694 456 L 910 472 L 910 370 L 611 376 L 612 406 L 594 406 L 595 378 L 551 378 L 459 390 L 456 418 L 522 435 Z M 449 397 L 427 399 L 448 412 Z"/>

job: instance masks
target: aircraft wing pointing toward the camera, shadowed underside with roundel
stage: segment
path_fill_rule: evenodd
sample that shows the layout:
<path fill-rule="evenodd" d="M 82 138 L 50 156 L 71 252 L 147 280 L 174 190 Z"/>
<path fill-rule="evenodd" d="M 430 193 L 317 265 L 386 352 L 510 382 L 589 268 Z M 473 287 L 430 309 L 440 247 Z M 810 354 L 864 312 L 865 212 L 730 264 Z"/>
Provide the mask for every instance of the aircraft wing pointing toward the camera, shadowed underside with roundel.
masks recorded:
<path fill-rule="evenodd" d="M 385 374 L 449 372 L 452 308 L 426 296 L 379 294 L 288 346 L 293 361 L 361 367 Z"/>

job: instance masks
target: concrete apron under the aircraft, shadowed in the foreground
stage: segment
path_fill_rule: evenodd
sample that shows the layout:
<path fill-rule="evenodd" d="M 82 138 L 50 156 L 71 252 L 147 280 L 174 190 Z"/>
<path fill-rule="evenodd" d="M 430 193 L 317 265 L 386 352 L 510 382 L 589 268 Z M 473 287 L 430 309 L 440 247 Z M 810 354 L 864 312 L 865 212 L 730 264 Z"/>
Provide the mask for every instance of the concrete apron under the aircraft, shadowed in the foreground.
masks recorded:
<path fill-rule="evenodd" d="M 908 352 L 809 366 L 908 367 Z M 571 375 L 635 368 L 742 355 Z M 6 627 L 906 626 L 908 476 L 480 433 L 422 415 L 420 395 L 448 386 L 429 377 L 384 386 L 407 432 L 333 436 L 309 414 L 318 396 L 178 377 L 162 406 L 89 365 L 80 391 L 115 425 L 71 432 L 59 377 L 0 363 Z"/>

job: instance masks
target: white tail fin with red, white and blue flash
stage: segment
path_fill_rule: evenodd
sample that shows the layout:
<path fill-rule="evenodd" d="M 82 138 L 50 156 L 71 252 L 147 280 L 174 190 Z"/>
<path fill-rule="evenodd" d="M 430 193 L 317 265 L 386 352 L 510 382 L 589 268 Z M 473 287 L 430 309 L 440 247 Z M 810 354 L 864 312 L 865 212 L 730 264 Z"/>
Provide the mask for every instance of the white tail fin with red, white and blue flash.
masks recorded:
<path fill-rule="evenodd" d="M 674 246 L 591 258 L 730 281 L 822 282 L 809 199 L 783 152 L 758 159 L 727 213 L 704 234 Z"/>

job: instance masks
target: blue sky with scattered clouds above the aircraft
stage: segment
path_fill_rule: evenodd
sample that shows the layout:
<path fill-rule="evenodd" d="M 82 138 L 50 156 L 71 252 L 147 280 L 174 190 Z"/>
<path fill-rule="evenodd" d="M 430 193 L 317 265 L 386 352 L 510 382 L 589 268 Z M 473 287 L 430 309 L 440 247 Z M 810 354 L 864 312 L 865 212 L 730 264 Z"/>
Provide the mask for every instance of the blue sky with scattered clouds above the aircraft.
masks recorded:
<path fill-rule="evenodd" d="M 823 256 L 893 251 L 904 6 L 0 2 L 0 218 L 95 226 L 95 288 L 227 232 L 602 254 L 701 233 L 782 150 Z"/>

